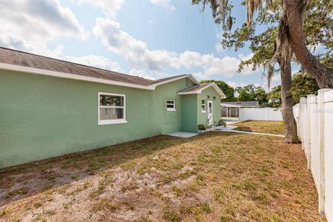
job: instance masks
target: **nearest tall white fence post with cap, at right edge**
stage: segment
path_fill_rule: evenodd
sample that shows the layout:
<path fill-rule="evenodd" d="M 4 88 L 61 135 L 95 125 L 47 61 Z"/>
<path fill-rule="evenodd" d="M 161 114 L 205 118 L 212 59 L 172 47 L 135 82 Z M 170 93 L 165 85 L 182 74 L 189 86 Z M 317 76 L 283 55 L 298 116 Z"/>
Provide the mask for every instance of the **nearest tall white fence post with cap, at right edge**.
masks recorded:
<path fill-rule="evenodd" d="M 319 189 L 318 189 L 318 210 L 325 213 L 325 112 L 324 94 L 330 89 L 318 90 L 318 145 L 319 145 Z"/>

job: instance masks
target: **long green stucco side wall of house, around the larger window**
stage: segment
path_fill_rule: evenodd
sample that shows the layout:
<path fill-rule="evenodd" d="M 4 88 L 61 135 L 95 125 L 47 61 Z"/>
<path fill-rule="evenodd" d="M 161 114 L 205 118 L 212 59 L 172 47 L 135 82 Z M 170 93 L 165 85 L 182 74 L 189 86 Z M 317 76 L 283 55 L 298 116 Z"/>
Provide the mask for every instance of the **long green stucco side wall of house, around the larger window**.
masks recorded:
<path fill-rule="evenodd" d="M 177 95 L 185 78 L 150 91 L 1 70 L 0 83 L 0 168 L 180 131 L 194 105 Z M 98 125 L 99 92 L 126 94 L 128 123 Z"/>

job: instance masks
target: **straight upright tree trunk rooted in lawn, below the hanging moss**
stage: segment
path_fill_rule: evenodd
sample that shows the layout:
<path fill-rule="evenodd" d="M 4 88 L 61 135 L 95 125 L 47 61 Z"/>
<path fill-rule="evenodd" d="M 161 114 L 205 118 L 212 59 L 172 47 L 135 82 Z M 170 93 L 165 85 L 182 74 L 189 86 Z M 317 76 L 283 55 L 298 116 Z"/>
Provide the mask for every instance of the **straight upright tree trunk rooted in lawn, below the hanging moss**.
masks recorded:
<path fill-rule="evenodd" d="M 299 143 L 297 126 L 293 117 L 293 96 L 291 95 L 291 60 L 278 60 L 281 75 L 282 118 L 284 121 L 285 142 Z"/>

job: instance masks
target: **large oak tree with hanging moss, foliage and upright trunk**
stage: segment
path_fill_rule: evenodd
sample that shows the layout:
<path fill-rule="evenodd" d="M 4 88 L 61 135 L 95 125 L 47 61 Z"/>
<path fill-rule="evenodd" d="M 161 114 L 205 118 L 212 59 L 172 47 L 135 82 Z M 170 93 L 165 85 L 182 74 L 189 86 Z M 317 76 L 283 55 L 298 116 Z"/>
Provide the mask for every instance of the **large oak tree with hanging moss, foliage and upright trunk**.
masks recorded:
<path fill-rule="evenodd" d="M 302 38 L 302 40 L 298 40 L 298 42 L 295 42 L 295 40 L 293 40 L 293 38 L 291 37 L 291 32 L 293 32 L 293 30 L 291 31 L 289 27 L 289 19 L 291 19 L 291 15 L 289 15 L 290 13 L 288 13 L 289 5 L 287 1 L 244 1 L 248 12 L 247 24 L 242 26 L 240 29 L 237 29 L 232 34 L 231 29 L 232 24 L 234 23 L 234 18 L 232 18 L 231 16 L 231 11 L 233 6 L 229 3 L 228 0 L 192 1 L 193 3 L 203 3 L 204 9 L 207 4 L 210 4 L 213 17 L 215 18 L 215 22 L 218 24 L 222 24 L 223 27 L 223 37 L 225 37 L 222 42 L 224 43 L 223 46 L 234 46 L 237 50 L 237 48 L 244 46 L 244 42 L 251 42 L 250 49 L 255 54 L 253 58 L 243 62 L 241 64 L 241 67 L 248 64 L 253 64 L 254 69 L 257 65 L 264 65 L 265 67 L 267 67 L 268 87 L 269 80 L 274 73 L 273 65 L 275 62 L 278 62 L 282 82 L 282 116 L 284 122 L 286 123 L 286 142 L 289 143 L 298 142 L 296 123 L 294 121 L 292 112 L 293 100 L 289 90 L 291 88 L 291 60 L 293 58 L 293 52 L 297 46 L 298 51 L 302 50 L 302 53 L 307 53 L 307 60 L 305 60 L 305 58 L 303 58 L 303 60 L 298 60 L 299 55 L 298 53 L 295 53 L 296 60 L 301 62 L 302 67 L 309 71 L 313 76 L 316 77 L 316 75 L 321 74 L 321 71 L 323 71 L 323 67 L 325 67 L 325 65 L 322 65 L 321 62 L 319 62 L 318 58 L 312 56 L 311 53 L 309 53 L 309 49 L 307 49 L 308 44 L 305 43 L 306 38 L 302 26 L 304 24 L 306 12 L 311 9 L 311 19 L 309 19 L 309 24 L 313 25 L 317 21 L 328 21 L 327 24 L 315 25 L 315 27 L 319 27 L 318 30 L 316 30 L 316 28 L 314 27 L 307 29 L 309 31 L 306 35 L 307 37 L 311 37 L 312 40 L 318 40 L 319 42 L 323 43 L 323 36 L 325 36 L 324 34 L 327 35 L 328 33 L 328 35 L 330 35 L 330 31 L 332 31 L 332 27 L 330 27 L 330 21 L 332 21 L 332 19 L 329 15 L 331 12 L 330 9 L 332 9 L 332 3 L 330 3 L 329 0 L 325 1 L 327 2 L 322 3 L 322 1 L 315 0 L 312 2 L 312 5 L 310 5 L 309 1 L 293 1 L 293 3 L 304 3 L 302 5 L 298 5 L 299 11 L 301 11 L 300 13 L 298 13 L 298 16 L 302 18 L 298 18 L 298 38 Z M 256 22 L 265 25 L 275 24 L 275 26 L 267 28 L 267 30 L 260 35 L 255 35 L 254 27 L 256 22 L 253 21 L 253 14 L 255 10 L 259 10 L 259 16 Z M 293 17 L 293 19 L 295 18 Z M 276 26 L 276 24 L 278 24 L 278 26 Z M 302 30 L 301 33 L 299 29 Z M 318 33 L 321 35 L 318 35 Z M 302 42 L 302 45 L 300 44 L 300 42 Z M 327 46 L 327 41 L 325 41 L 325 44 Z M 300 48 L 300 46 L 302 46 L 302 48 Z M 303 46 L 305 46 L 305 48 Z M 328 56 L 328 58 L 330 57 Z M 309 64 L 303 64 L 303 62 L 309 63 L 309 60 L 311 60 L 312 63 L 316 61 L 316 69 L 321 68 L 321 71 L 317 71 L 316 74 L 313 74 L 312 72 L 314 71 L 314 68 L 311 67 L 311 69 L 309 69 Z M 321 87 L 332 87 L 332 85 L 329 84 L 330 81 L 327 81 L 328 79 L 333 79 L 332 76 L 330 76 L 330 72 L 332 74 L 332 70 L 330 70 L 330 68 L 328 67 L 325 67 L 325 71 L 322 75 L 325 75 L 327 78 L 316 78 L 318 84 L 321 85 Z M 319 81 L 322 82 L 320 83 Z"/>

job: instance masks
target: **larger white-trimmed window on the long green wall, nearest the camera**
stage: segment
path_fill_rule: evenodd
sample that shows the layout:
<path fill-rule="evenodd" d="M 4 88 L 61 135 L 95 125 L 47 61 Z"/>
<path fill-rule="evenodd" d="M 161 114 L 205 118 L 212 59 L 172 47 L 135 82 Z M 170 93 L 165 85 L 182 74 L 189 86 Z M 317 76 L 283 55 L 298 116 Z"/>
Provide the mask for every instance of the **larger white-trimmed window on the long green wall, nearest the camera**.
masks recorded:
<path fill-rule="evenodd" d="M 99 125 L 126 123 L 126 95 L 99 92 Z"/>

